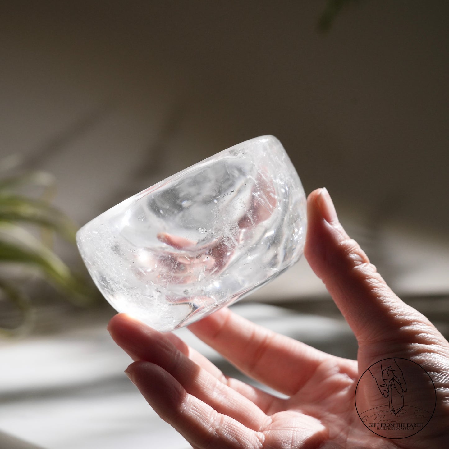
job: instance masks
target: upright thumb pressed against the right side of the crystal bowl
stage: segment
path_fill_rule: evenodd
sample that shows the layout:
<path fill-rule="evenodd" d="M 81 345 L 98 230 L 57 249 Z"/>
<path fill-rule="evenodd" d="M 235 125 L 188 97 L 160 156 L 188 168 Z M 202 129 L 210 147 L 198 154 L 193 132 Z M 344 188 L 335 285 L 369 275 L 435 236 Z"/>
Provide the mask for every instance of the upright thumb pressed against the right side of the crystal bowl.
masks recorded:
<path fill-rule="evenodd" d="M 308 196 L 307 214 L 304 254 L 351 326 L 359 346 L 392 342 L 400 329 L 417 321 L 430 324 L 391 291 L 357 242 L 349 238 L 326 189 L 314 190 Z"/>

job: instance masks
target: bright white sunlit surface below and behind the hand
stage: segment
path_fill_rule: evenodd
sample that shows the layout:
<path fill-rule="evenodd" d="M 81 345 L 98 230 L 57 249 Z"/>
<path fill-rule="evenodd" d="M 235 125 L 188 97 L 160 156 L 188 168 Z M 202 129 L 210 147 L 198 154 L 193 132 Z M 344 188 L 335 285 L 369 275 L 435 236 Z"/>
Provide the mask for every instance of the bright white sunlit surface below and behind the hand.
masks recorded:
<path fill-rule="evenodd" d="M 351 335 L 340 320 L 263 304 L 239 304 L 234 309 L 318 346 Z M 220 356 L 188 330 L 177 334 L 222 366 Z M 106 322 L 65 335 L 3 342 L 0 360 L 2 431 L 45 449 L 189 447 L 123 373 L 130 359 L 110 339 Z M 10 449 L 1 446 L 1 440 L 0 447 Z"/>

